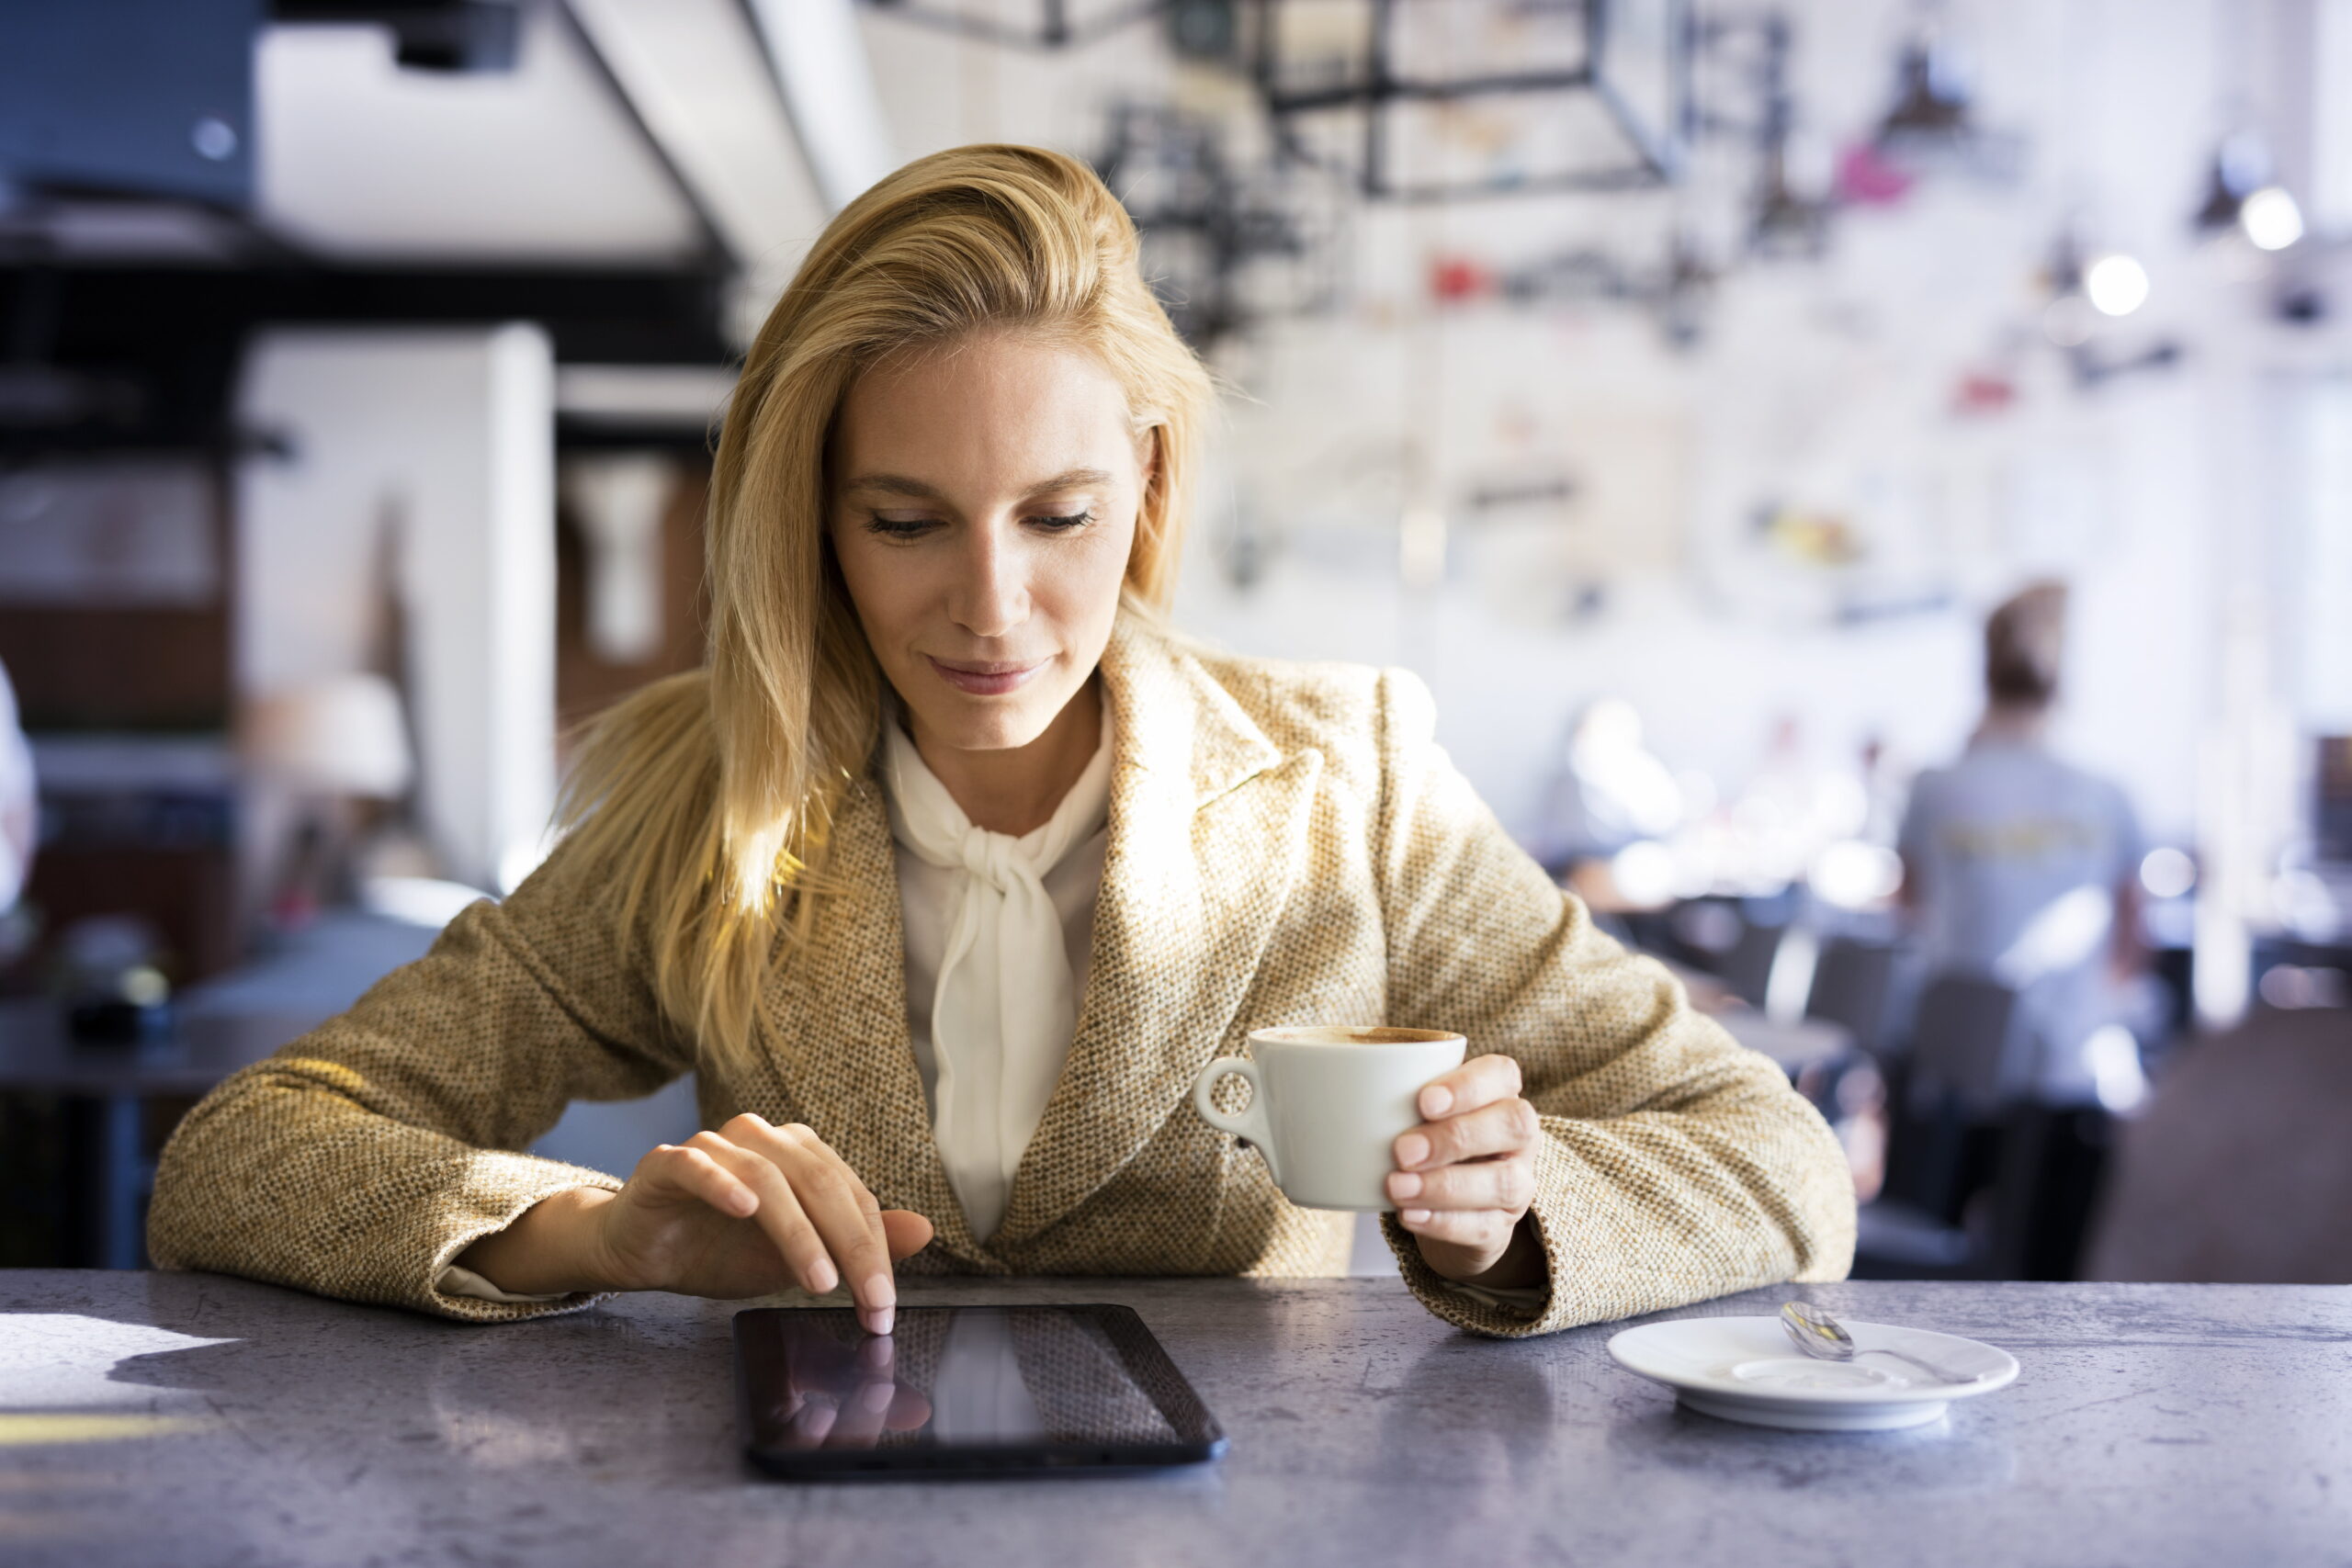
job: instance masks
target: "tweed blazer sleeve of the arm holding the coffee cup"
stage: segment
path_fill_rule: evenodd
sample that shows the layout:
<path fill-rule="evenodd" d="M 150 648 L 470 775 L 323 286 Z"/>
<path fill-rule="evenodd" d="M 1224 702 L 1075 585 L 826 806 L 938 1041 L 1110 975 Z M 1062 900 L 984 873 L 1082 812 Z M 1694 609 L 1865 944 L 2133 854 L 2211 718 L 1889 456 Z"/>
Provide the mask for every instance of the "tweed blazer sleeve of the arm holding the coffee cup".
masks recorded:
<path fill-rule="evenodd" d="M 1534 1335 L 1783 1279 L 1844 1279 L 1853 1178 L 1820 1114 L 1766 1056 L 1696 1013 L 1653 959 L 1503 832 L 1432 741 L 1428 691 L 1381 677 L 1378 879 L 1390 1020 L 1458 1030 L 1519 1060 L 1543 1119 L 1531 1215 L 1541 1307 L 1449 1286 L 1385 1218 L 1442 1319 Z"/>

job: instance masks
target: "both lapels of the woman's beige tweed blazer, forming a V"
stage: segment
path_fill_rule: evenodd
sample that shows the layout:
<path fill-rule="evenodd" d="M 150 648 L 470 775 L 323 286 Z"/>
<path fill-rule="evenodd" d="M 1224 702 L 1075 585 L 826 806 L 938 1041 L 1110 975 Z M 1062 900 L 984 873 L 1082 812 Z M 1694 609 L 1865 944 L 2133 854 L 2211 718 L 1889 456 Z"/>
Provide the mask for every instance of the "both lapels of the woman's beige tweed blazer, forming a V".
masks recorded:
<path fill-rule="evenodd" d="M 1284 757 L 1178 644 L 1122 618 L 1103 651 L 1117 715 L 1110 846 L 1070 1058 L 983 1246 L 931 1138 L 906 1027 L 906 933 L 882 785 L 842 799 L 809 950 L 776 966 L 767 1020 L 783 1100 L 934 1248 L 1002 1274 L 1004 1248 L 1110 1180 L 1185 1103 L 1258 971 L 1305 860 L 1317 752 Z"/>

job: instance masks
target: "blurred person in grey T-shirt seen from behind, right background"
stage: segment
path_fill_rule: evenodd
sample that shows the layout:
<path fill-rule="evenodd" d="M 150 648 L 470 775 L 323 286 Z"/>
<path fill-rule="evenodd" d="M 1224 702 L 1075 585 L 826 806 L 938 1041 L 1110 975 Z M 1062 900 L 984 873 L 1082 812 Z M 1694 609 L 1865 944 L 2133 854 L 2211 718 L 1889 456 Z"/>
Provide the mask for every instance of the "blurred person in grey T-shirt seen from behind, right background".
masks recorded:
<path fill-rule="evenodd" d="M 2143 961 L 2140 825 L 2117 783 L 2049 745 L 2065 611 L 2067 590 L 2037 583 L 1985 621 L 1985 717 L 1957 762 L 1919 776 L 1898 839 L 1926 973 L 2018 992 L 2030 1079 L 2016 1091 L 2056 1114 L 2034 1248 L 2044 1262 L 2074 1253 L 2107 1114 L 2147 1093 L 2122 1025 Z"/>

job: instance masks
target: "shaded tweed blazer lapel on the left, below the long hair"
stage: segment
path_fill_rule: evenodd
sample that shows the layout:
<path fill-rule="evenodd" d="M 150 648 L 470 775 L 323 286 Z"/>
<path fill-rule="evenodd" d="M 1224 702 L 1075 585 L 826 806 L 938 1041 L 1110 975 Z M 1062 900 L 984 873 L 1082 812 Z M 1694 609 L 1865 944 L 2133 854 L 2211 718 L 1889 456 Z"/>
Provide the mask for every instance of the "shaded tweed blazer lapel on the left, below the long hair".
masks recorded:
<path fill-rule="evenodd" d="M 884 1208 L 931 1220 L 931 1246 L 1004 1272 L 971 1237 L 931 1140 L 906 1027 L 906 933 L 882 785 L 842 799 L 811 945 L 776 964 L 767 987 L 771 1070 L 793 1117 L 816 1128 Z"/>

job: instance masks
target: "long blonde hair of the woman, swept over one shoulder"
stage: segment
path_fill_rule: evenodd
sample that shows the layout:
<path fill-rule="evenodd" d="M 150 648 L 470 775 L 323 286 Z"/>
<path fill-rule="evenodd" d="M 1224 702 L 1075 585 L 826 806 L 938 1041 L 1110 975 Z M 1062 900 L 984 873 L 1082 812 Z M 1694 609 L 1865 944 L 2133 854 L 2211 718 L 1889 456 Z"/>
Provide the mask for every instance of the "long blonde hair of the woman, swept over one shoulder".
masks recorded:
<path fill-rule="evenodd" d="M 708 668 L 614 705 L 557 823 L 621 940 L 706 1058 L 757 1058 L 779 943 L 826 896 L 826 846 L 880 736 L 882 675 L 826 541 L 826 447 L 875 362 L 974 331 L 1044 331 L 1124 386 L 1152 454 L 1122 602 L 1167 607 L 1211 386 L 1136 266 L 1136 228 L 1061 153 L 969 146 L 854 200 L 743 362 L 706 517 Z"/>

